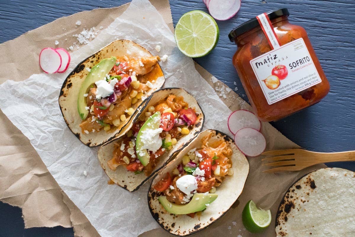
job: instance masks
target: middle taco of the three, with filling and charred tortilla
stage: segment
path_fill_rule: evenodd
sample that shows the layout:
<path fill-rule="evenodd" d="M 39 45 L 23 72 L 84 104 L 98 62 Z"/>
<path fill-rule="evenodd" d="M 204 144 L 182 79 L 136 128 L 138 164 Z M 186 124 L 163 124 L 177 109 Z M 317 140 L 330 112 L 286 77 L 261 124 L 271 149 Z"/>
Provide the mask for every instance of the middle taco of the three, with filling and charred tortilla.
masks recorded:
<path fill-rule="evenodd" d="M 114 183 L 135 191 L 201 131 L 203 122 L 189 93 L 161 89 L 148 98 L 124 137 L 100 148 L 100 164 Z"/>

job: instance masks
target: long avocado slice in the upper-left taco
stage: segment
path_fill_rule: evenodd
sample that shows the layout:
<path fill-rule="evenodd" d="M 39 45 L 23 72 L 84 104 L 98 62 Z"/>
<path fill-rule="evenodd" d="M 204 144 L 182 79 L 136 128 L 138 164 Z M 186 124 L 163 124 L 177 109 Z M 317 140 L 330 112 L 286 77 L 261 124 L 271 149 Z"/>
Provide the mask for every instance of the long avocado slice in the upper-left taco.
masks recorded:
<path fill-rule="evenodd" d="M 89 114 L 89 111 L 85 109 L 87 107 L 86 97 L 84 94 L 88 93 L 90 86 L 99 80 L 103 80 L 106 74 L 109 74 L 111 69 L 116 63 L 116 58 L 105 58 L 96 64 L 86 76 L 85 80 L 81 84 L 79 95 L 78 95 L 78 112 L 82 120 L 86 119 Z"/>

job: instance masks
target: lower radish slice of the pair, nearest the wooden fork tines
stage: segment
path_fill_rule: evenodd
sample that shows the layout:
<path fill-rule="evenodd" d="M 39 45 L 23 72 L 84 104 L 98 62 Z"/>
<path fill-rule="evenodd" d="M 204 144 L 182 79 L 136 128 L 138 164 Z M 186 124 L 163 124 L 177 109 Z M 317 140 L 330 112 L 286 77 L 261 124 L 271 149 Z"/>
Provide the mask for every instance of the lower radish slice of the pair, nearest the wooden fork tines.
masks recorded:
<path fill-rule="evenodd" d="M 266 148 L 264 135 L 253 128 L 242 128 L 234 136 L 235 145 L 246 156 L 258 156 Z"/>

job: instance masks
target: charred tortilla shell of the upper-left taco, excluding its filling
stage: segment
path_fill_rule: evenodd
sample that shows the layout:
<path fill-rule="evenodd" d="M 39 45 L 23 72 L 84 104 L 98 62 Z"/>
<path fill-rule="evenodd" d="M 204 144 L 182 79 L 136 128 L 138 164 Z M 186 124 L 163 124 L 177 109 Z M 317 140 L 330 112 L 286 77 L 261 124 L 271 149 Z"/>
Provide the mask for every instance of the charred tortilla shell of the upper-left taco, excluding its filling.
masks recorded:
<path fill-rule="evenodd" d="M 148 50 L 132 41 L 122 39 L 113 41 L 77 65 L 76 68 L 65 79 L 61 88 L 59 106 L 63 118 L 72 133 L 87 146 L 100 146 L 123 136 L 127 131 L 125 127 L 127 124 L 130 124 L 130 121 L 137 114 L 137 108 L 144 104 L 144 102 L 141 101 L 132 106 L 136 112 L 127 118 L 125 123 L 122 123 L 116 130 L 106 132 L 101 129 L 99 132 L 89 134 L 82 134 L 81 132 L 79 124 L 82 122 L 82 120 L 77 110 L 77 99 L 81 84 L 89 73 L 86 68 L 92 68 L 104 58 L 123 55 L 126 55 L 128 58 L 153 56 L 151 53 L 149 53 Z M 155 66 L 161 70 L 159 64 L 156 64 Z M 154 80 L 155 82 L 152 83 L 153 88 L 149 89 L 147 92 L 147 97 L 150 96 L 154 91 L 162 88 L 165 82 L 164 76 L 158 77 Z"/>

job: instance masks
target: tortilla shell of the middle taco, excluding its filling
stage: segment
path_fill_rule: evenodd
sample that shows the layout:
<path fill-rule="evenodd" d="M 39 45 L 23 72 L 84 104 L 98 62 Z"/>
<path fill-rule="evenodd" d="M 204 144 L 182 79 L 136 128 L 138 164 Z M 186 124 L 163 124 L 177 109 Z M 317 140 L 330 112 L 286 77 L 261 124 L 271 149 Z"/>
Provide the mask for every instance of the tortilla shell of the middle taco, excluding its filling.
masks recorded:
<path fill-rule="evenodd" d="M 159 171 L 159 169 L 161 169 L 167 162 L 169 162 L 171 156 L 175 151 L 183 149 L 185 144 L 188 144 L 193 139 L 193 137 L 202 130 L 203 122 L 204 122 L 203 112 L 200 106 L 198 105 L 196 99 L 193 98 L 193 96 L 191 96 L 188 92 L 186 92 L 181 88 L 165 88 L 153 93 L 153 95 L 149 98 L 149 101 L 145 104 L 144 108 L 142 108 L 141 113 L 147 112 L 149 106 L 156 104 L 157 102 L 168 97 L 171 94 L 175 96 L 184 97 L 184 101 L 189 104 L 189 107 L 195 109 L 196 113 L 198 114 L 197 121 L 195 125 L 192 126 L 192 129 L 190 129 L 189 135 L 183 136 L 180 139 L 178 139 L 178 142 L 173 147 L 173 149 L 171 149 L 169 152 L 164 153 L 159 158 L 159 162 L 157 163 L 157 166 L 155 166 L 150 176 L 147 177 L 144 173 L 134 174 L 133 172 L 127 171 L 126 167 L 123 165 L 118 166 L 115 171 L 111 170 L 108 167 L 107 162 L 112 159 L 113 151 L 115 149 L 115 142 L 102 146 L 99 149 L 98 158 L 107 176 L 114 183 L 129 190 L 130 192 L 137 190 L 138 188 L 141 187 L 141 185 L 147 182 L 150 177 L 152 177 L 156 172 Z M 129 126 L 127 126 L 128 130 L 138 120 L 138 118 L 139 115 L 136 116 L 136 118 L 130 123 Z"/>

